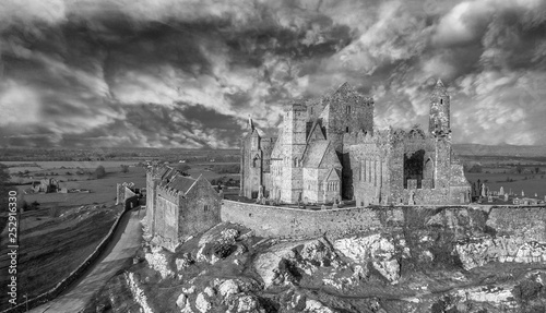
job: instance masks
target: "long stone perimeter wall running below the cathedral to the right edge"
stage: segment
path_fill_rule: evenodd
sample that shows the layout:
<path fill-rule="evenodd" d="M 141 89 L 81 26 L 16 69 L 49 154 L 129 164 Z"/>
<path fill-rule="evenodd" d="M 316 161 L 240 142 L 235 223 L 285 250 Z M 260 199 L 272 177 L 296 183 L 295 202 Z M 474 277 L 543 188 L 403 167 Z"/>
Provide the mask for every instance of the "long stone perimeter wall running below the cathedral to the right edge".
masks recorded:
<path fill-rule="evenodd" d="M 499 236 L 521 236 L 529 240 L 546 241 L 546 209 L 542 207 L 471 205 L 450 206 L 376 206 L 323 210 L 266 206 L 224 200 L 222 221 L 244 225 L 256 236 L 277 239 L 310 239 L 327 236 L 330 239 L 356 233 L 392 232 L 411 226 L 412 214 L 405 210 L 428 210 L 430 216 L 443 210 L 448 215 L 467 216 L 461 210 L 488 210 L 486 225 Z M 424 216 L 426 216 L 425 214 Z M 444 216 L 447 216 L 444 214 Z M 468 224 L 470 222 L 470 224 Z M 484 227 L 480 219 L 471 219 L 465 227 Z"/>

